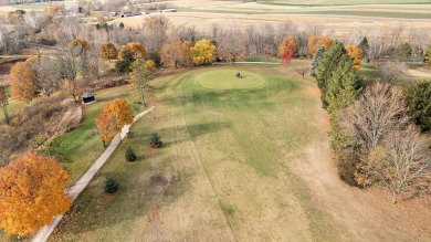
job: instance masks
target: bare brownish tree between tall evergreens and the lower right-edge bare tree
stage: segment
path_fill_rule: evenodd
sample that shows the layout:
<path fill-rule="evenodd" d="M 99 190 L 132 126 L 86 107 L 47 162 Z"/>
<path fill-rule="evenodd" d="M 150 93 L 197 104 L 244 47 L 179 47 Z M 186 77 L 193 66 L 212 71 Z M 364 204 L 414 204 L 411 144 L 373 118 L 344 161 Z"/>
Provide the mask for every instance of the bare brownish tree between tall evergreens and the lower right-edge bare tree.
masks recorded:
<path fill-rule="evenodd" d="M 402 129 L 409 123 L 402 90 L 381 82 L 369 85 L 338 119 L 348 136 L 346 148 L 355 149 L 361 169 L 366 171 L 369 170 L 369 154 L 393 130 Z"/>

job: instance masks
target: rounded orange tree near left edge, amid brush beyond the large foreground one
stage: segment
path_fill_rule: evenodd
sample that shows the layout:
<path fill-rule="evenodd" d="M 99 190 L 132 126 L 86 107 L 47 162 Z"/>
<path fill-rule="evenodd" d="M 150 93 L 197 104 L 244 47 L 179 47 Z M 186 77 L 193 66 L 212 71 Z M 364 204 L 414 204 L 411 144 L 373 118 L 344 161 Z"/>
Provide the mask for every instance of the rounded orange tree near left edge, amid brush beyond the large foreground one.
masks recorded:
<path fill-rule="evenodd" d="M 38 91 L 33 77 L 33 71 L 28 63 L 20 62 L 14 64 L 9 75 L 12 98 L 27 103 L 32 101 Z"/>

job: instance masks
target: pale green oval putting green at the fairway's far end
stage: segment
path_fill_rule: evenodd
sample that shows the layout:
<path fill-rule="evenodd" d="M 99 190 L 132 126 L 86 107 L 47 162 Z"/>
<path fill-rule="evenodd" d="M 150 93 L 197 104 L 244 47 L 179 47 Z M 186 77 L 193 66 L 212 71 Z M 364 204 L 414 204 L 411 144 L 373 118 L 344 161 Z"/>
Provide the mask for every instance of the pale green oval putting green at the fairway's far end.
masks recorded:
<path fill-rule="evenodd" d="M 238 78 L 236 73 L 236 70 L 214 70 L 195 78 L 201 86 L 211 90 L 249 90 L 266 85 L 265 78 L 256 73 L 241 71 L 243 78 Z"/>

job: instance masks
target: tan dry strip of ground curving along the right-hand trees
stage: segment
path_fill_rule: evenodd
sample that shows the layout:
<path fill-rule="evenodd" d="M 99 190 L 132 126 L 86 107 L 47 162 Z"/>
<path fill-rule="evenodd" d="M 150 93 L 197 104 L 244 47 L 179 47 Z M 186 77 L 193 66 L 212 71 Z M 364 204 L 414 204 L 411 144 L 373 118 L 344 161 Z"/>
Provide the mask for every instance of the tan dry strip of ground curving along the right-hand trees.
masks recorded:
<path fill-rule="evenodd" d="M 312 88 L 313 90 L 313 88 Z M 318 92 L 311 92 L 318 95 Z M 429 241 L 431 238 L 431 202 L 406 201 L 393 206 L 382 190 L 360 190 L 344 183 L 332 160 L 328 115 L 315 106 L 318 137 L 303 150 L 295 171 L 306 181 L 316 200 L 336 222 L 353 234 L 347 241 Z"/>

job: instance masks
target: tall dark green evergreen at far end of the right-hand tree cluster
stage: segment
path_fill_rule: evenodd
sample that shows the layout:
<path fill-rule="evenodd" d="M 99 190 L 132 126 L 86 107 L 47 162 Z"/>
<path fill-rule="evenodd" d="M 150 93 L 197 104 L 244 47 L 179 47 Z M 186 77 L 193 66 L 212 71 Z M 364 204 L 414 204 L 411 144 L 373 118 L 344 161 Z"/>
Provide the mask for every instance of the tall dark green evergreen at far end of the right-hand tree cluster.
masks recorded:
<path fill-rule="evenodd" d="M 326 90 L 329 80 L 333 77 L 337 70 L 343 56 L 347 56 L 347 51 L 341 43 L 335 43 L 328 52 L 326 52 L 323 59 L 319 61 L 316 69 L 316 82 L 318 88 L 320 88 L 320 99 L 324 108 L 327 108 L 328 102 L 326 101 Z"/>

